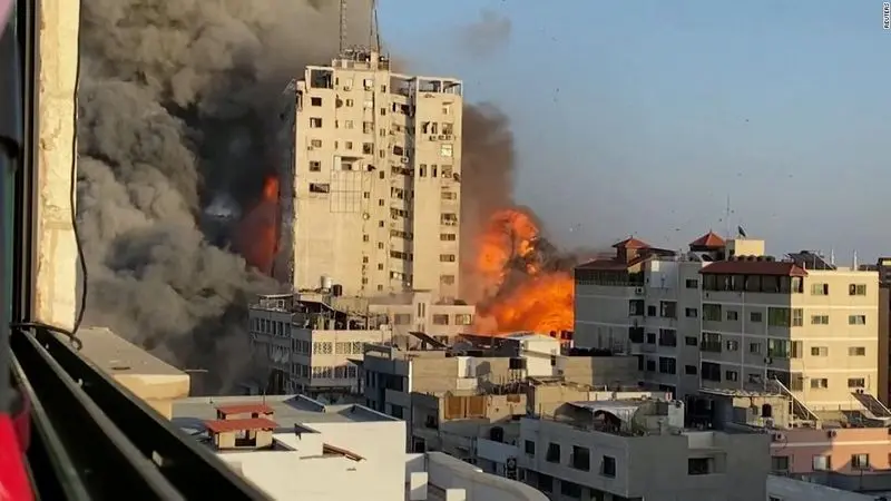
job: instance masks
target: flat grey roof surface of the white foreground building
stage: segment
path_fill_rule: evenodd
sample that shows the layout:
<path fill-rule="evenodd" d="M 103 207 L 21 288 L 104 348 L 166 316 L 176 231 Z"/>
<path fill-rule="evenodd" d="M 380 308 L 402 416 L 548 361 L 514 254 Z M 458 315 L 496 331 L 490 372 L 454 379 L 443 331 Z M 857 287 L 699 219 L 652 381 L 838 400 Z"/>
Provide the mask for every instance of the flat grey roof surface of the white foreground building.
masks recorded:
<path fill-rule="evenodd" d="M 216 409 L 226 405 L 265 404 L 278 429 L 295 424 L 369 423 L 398 421 L 395 418 L 358 404 L 325 405 L 304 395 L 190 396 L 173 402 L 173 423 L 192 431 L 203 431 L 204 421 L 216 420 Z"/>

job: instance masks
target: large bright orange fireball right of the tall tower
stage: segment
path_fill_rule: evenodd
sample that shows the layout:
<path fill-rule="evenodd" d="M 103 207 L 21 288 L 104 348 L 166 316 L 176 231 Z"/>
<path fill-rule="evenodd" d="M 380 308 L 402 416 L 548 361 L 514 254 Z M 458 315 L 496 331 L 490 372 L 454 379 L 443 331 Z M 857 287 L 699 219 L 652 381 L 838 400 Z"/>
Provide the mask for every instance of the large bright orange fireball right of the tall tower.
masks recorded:
<path fill-rule="evenodd" d="M 538 225 L 527 213 L 505 209 L 489 219 L 474 264 L 490 297 L 480 305 L 476 332 L 572 330 L 572 276 L 547 269 L 541 242 Z"/>

